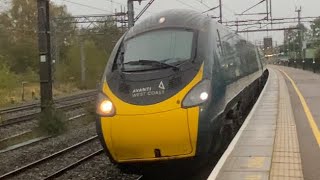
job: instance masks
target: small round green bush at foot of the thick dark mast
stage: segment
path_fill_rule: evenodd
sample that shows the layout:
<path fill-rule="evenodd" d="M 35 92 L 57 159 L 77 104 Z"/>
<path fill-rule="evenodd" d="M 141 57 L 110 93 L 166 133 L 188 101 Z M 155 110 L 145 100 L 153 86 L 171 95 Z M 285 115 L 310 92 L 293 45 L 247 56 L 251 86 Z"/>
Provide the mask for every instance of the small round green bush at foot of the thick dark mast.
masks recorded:
<path fill-rule="evenodd" d="M 67 130 L 66 116 L 62 111 L 48 108 L 40 113 L 39 129 L 48 135 L 58 135 Z"/>

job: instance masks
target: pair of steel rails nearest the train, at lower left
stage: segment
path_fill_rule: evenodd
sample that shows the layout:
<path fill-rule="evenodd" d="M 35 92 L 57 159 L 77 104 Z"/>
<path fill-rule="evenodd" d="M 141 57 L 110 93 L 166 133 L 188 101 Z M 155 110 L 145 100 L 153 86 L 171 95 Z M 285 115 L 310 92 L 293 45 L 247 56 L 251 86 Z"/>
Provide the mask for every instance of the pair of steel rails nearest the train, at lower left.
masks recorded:
<path fill-rule="evenodd" d="M 97 139 L 98 139 L 97 136 L 92 136 L 92 137 L 90 137 L 84 141 L 81 141 L 77 144 L 74 144 L 68 148 L 65 148 L 65 149 L 60 150 L 56 153 L 53 153 L 49 156 L 46 156 L 44 158 L 41 158 L 41 159 L 36 160 L 34 162 L 31 162 L 31 163 L 24 165 L 18 169 L 12 170 L 6 174 L 0 175 L 0 179 L 8 179 L 8 178 L 12 178 L 12 177 L 21 175 L 25 171 L 36 169 L 36 167 L 39 165 L 50 166 L 50 165 L 52 165 L 52 163 L 50 163 L 49 161 L 54 160 L 55 158 L 59 158 L 60 156 L 65 155 L 67 153 L 83 153 L 83 152 L 79 151 L 79 149 L 85 145 L 88 145 L 89 143 L 92 143 L 93 141 L 96 141 Z M 79 152 L 77 152 L 77 150 Z M 78 159 L 77 161 L 74 161 L 68 165 L 65 165 L 63 168 L 60 168 L 59 170 L 54 171 L 50 175 L 44 177 L 44 179 L 53 179 L 53 178 L 59 177 L 62 174 L 66 173 L 67 171 L 72 170 L 73 168 L 75 168 L 79 164 L 101 154 L 102 152 L 103 152 L 102 149 L 98 149 L 98 150 L 95 150 L 93 153 L 86 154 L 84 157 Z"/>

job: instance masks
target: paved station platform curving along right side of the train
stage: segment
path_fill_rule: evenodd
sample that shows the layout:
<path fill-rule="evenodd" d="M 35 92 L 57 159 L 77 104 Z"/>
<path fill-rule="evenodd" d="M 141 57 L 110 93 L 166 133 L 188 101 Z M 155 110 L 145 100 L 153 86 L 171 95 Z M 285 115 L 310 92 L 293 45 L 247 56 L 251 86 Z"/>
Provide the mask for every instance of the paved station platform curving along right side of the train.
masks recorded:
<path fill-rule="evenodd" d="M 209 180 L 320 180 L 320 75 L 268 69 L 265 88 Z"/>

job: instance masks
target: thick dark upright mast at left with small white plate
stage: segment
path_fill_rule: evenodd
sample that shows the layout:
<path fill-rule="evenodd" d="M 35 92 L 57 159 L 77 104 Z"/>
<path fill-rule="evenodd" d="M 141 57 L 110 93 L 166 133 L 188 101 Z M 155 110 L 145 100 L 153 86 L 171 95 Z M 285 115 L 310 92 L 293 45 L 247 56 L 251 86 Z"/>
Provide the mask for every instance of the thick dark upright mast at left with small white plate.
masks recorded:
<path fill-rule="evenodd" d="M 49 0 L 37 0 L 41 111 L 52 108 Z"/>

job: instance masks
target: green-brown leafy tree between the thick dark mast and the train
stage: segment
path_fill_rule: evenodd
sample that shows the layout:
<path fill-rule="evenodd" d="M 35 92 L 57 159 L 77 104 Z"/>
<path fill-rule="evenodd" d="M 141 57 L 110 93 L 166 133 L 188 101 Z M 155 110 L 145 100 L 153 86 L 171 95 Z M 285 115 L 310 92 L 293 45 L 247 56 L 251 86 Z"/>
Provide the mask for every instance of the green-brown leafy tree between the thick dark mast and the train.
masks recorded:
<path fill-rule="evenodd" d="M 57 21 L 70 23 L 72 18 L 58 17 Z M 102 21 L 102 20 L 101 20 Z M 70 29 L 74 31 L 74 29 Z M 76 82 L 78 87 L 95 88 L 100 81 L 109 54 L 115 43 L 121 37 L 122 32 L 116 26 L 113 19 L 106 19 L 103 23 L 95 24 L 91 28 L 76 29 L 71 37 L 66 38 L 68 51 L 65 58 L 56 64 L 56 82 Z M 84 46 L 86 81 L 81 83 L 80 43 Z"/>

